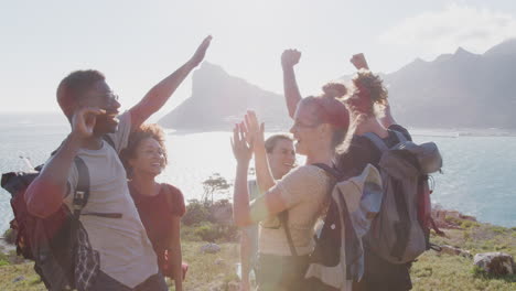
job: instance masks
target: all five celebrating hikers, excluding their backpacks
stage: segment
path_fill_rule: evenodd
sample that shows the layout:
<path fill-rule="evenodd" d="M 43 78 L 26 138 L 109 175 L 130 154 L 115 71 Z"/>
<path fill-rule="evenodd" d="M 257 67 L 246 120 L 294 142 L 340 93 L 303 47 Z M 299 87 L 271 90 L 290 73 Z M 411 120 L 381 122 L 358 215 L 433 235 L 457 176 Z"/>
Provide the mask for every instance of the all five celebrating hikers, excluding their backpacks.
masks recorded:
<path fill-rule="evenodd" d="M 168 290 L 164 277 L 183 290 L 180 227 L 183 194 L 158 183 L 168 162 L 163 130 L 146 120 L 158 111 L 204 58 L 212 37 L 128 111 L 119 114 L 118 96 L 98 71 L 76 71 L 57 88 L 57 101 L 72 130 L 25 192 L 28 211 L 49 217 L 62 204 L 75 206 L 80 158 L 89 170 L 89 196 L 77 231 L 75 284 L 87 291 Z M 311 290 L 305 278 L 314 248 L 315 225 L 329 209 L 332 177 L 315 164 L 355 176 L 380 153 L 362 136 L 374 132 L 387 144 L 394 131 L 410 139 L 393 119 L 381 79 L 355 56 L 358 68 L 351 86 L 331 83 L 323 94 L 302 98 L 294 66 L 301 53 L 281 56 L 291 134 L 265 140 L 254 111 L 235 126 L 232 148 L 237 160 L 234 220 L 241 233 L 241 290 L 250 290 L 249 271 L 264 290 Z M 295 144 L 294 144 L 295 142 Z M 295 153 L 305 155 L 295 164 Z M 251 157 L 256 180 L 247 181 Z M 251 201 L 252 198 L 252 201 Z M 330 226 L 322 226 L 330 227 Z M 291 237 L 286 236 L 286 228 Z M 292 254 L 294 249 L 295 256 Z M 365 271 L 353 290 L 409 290 L 407 265 L 393 265 L 364 246 Z M 345 274 L 342 274 L 345 276 Z M 325 289 L 332 290 L 332 289 Z"/>

